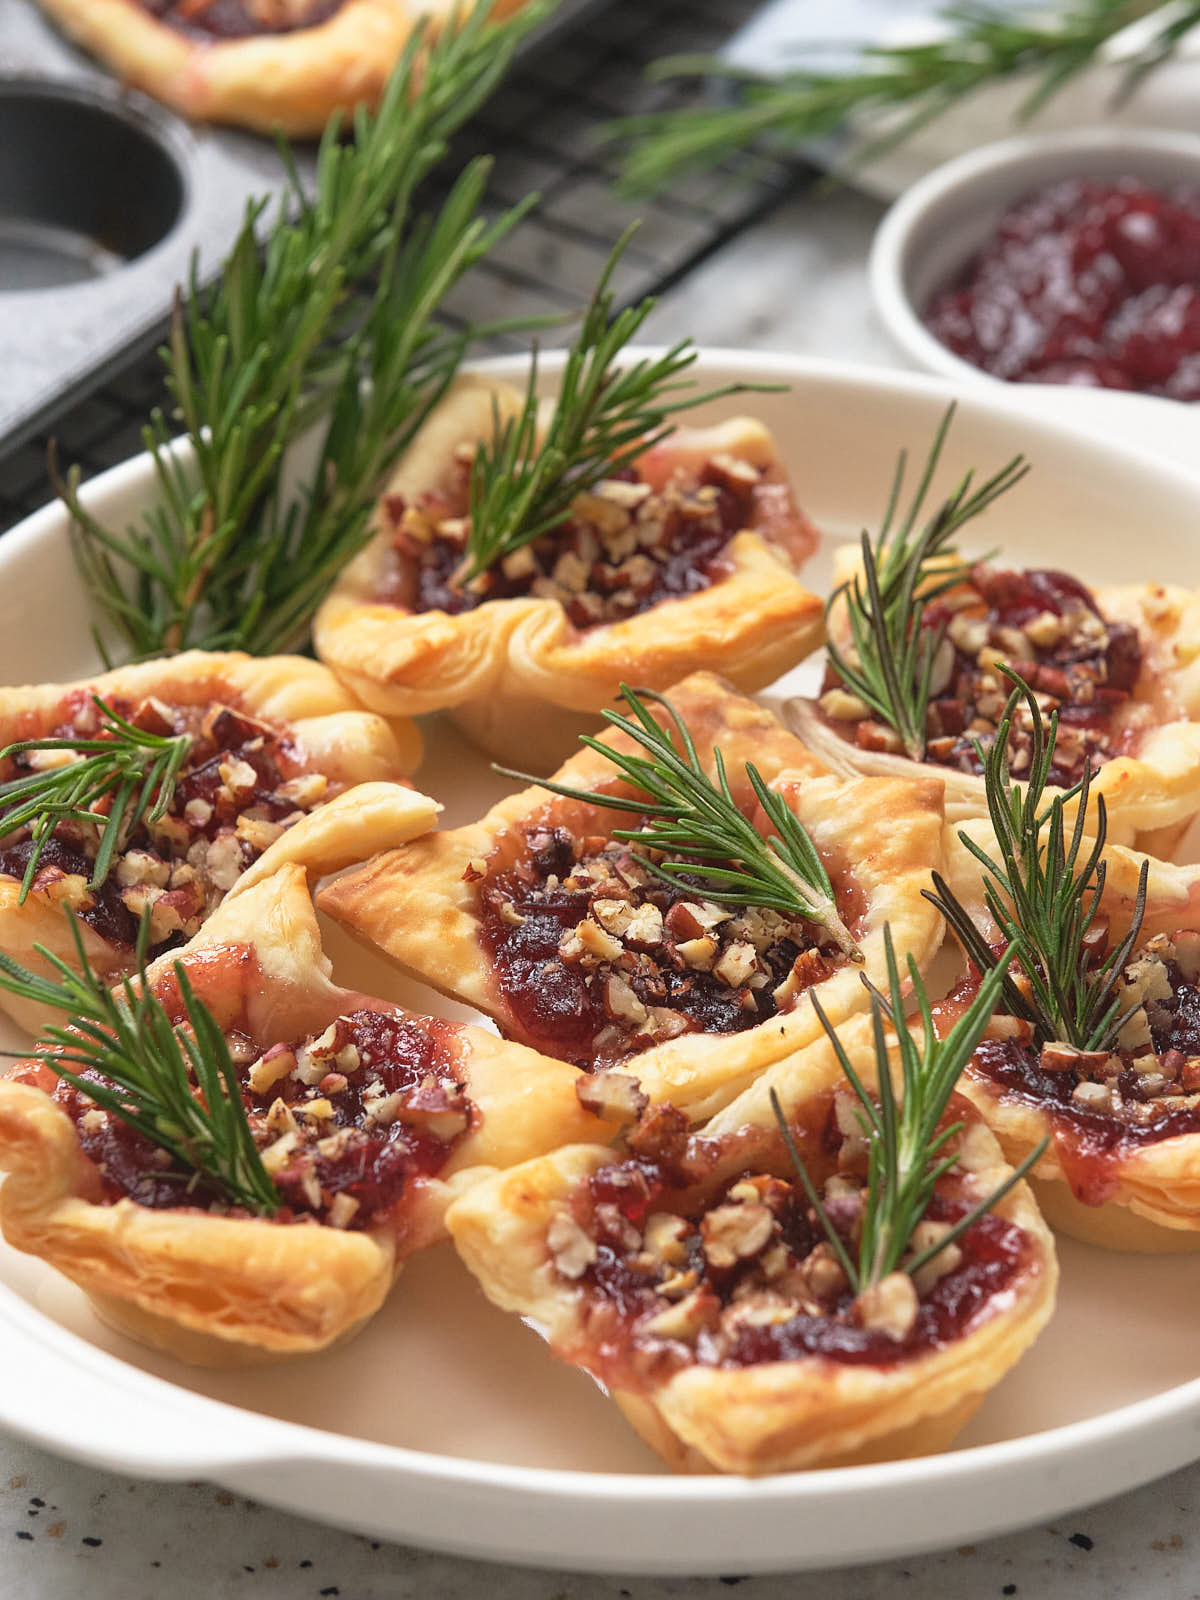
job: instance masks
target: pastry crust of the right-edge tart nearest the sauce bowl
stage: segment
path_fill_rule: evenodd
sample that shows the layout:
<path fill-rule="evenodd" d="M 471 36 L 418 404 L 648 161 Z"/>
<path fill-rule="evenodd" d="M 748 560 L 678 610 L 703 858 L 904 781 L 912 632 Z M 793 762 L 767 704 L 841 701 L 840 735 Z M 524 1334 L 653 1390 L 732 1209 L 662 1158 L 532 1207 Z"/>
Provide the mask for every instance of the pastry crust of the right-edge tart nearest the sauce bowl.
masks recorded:
<path fill-rule="evenodd" d="M 834 586 L 861 571 L 861 552 L 843 546 L 834 557 Z M 1138 627 L 1144 648 L 1142 672 L 1131 699 L 1120 707 L 1114 728 L 1138 733 L 1134 755 L 1117 755 L 1096 768 L 1094 797 L 1104 795 L 1109 838 L 1170 853 L 1182 829 L 1200 811 L 1200 595 L 1162 584 L 1093 590 L 1101 613 Z M 846 637 L 845 606 L 830 618 L 835 638 Z M 904 755 L 859 750 L 835 733 L 810 699 L 790 701 L 786 718 L 835 773 L 888 774 L 914 770 Z M 950 822 L 984 816 L 984 781 L 933 762 L 920 765 L 946 786 Z M 1070 814 L 1070 808 L 1069 808 Z"/>

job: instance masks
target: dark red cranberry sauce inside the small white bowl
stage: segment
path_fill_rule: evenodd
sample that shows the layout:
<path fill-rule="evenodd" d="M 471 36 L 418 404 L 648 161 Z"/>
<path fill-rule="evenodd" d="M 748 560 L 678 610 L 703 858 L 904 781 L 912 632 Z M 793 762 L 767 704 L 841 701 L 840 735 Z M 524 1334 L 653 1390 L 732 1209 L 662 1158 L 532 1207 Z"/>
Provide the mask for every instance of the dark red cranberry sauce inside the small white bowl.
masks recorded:
<path fill-rule="evenodd" d="M 925 314 L 1013 382 L 1200 398 L 1200 189 L 1064 179 L 1002 218 Z"/>

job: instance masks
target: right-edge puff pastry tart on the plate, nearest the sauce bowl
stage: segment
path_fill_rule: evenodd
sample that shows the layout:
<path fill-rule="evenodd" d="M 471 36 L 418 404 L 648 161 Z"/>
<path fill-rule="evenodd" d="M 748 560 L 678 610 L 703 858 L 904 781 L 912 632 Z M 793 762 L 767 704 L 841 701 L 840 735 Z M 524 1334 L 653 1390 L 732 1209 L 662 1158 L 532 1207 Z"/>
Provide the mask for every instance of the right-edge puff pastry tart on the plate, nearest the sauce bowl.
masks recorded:
<path fill-rule="evenodd" d="M 861 550 L 835 557 L 835 584 L 861 573 Z M 923 626 L 946 627 L 934 662 L 925 770 L 946 784 L 950 821 L 984 816 L 974 741 L 995 734 L 1011 666 L 1058 710 L 1051 782 L 1067 787 L 1091 763 L 1093 795 L 1104 795 L 1109 837 L 1170 853 L 1200 810 L 1200 600 L 1162 584 L 1091 589 L 1067 573 L 978 565 L 926 605 Z M 834 605 L 830 637 L 848 642 L 845 603 Z M 848 694 L 832 669 L 818 701 L 794 701 L 789 723 L 842 773 L 912 768 L 898 734 Z M 1014 778 L 1029 766 L 1027 725 L 1010 739 Z"/>

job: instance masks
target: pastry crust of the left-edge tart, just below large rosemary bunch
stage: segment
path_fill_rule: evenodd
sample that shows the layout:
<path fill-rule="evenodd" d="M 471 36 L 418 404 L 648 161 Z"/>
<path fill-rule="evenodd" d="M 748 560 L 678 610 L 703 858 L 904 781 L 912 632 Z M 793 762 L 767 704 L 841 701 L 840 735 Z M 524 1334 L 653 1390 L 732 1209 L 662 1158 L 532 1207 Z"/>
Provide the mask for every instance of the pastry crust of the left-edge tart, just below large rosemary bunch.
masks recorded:
<path fill-rule="evenodd" d="M 330 779 L 333 798 L 269 845 L 229 894 L 270 877 L 288 861 L 304 866 L 315 882 L 387 843 L 424 834 L 437 821 L 437 803 L 400 782 L 421 760 L 416 726 L 410 722 L 389 725 L 363 710 L 317 661 L 194 650 L 165 661 L 117 667 L 78 683 L 0 688 L 0 747 L 45 738 L 61 720 L 67 698 L 91 693 L 106 701 L 138 702 L 155 694 L 178 706 L 222 702 L 264 722 L 286 725 L 299 765 Z M 74 960 L 61 904 L 51 893 L 34 890 L 21 906 L 19 893 L 19 880 L 0 874 L 0 947 L 35 970 L 46 970 L 35 944 L 66 962 Z M 88 923 L 80 922 L 78 928 L 96 973 L 115 978 L 130 971 L 126 947 L 109 944 Z M 50 1019 L 46 1011 L 8 994 L 0 994 L 0 1006 L 30 1032 Z"/>

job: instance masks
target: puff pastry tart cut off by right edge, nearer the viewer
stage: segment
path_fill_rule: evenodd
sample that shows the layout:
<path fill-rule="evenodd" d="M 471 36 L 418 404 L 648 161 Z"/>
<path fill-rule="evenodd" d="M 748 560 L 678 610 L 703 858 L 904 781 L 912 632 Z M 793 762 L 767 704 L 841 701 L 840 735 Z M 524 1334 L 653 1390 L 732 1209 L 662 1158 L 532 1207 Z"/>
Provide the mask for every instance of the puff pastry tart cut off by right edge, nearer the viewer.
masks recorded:
<path fill-rule="evenodd" d="M 986 822 L 963 832 L 995 850 Z M 1104 853 L 1098 963 L 1130 930 L 1144 859 L 1120 846 Z M 1149 866 L 1146 915 L 1115 990 L 1128 1016 L 1114 1048 L 1038 1048 L 1026 1021 L 998 1011 L 960 1090 L 1011 1162 L 1050 1136 L 1032 1184 L 1061 1232 L 1110 1250 L 1186 1251 L 1200 1248 L 1200 867 Z M 976 862 L 957 840 L 947 883 L 984 938 L 1000 942 Z M 939 1027 L 976 987 L 968 970 L 938 1008 Z"/>

